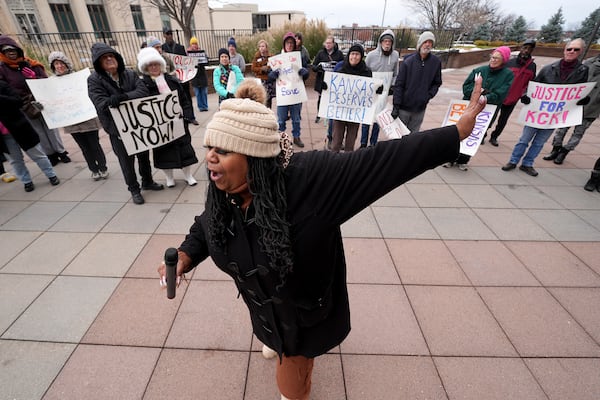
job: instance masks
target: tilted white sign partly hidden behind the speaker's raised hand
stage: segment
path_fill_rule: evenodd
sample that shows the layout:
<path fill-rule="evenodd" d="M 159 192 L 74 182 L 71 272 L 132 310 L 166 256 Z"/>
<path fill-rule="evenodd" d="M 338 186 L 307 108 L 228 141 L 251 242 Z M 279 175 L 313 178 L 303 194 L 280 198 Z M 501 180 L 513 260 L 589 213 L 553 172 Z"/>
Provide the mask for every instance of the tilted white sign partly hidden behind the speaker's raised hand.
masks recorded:
<path fill-rule="evenodd" d="M 464 114 L 468 104 L 468 100 L 450 100 L 450 105 L 448 106 L 448 111 L 446 112 L 442 126 L 456 125 L 460 117 Z M 483 135 L 485 135 L 487 128 L 490 126 L 495 111 L 495 105 L 487 104 L 485 108 L 477 114 L 473 131 L 471 131 L 469 137 L 460 142 L 460 152 L 462 154 L 468 156 L 475 155 L 481 144 Z"/>

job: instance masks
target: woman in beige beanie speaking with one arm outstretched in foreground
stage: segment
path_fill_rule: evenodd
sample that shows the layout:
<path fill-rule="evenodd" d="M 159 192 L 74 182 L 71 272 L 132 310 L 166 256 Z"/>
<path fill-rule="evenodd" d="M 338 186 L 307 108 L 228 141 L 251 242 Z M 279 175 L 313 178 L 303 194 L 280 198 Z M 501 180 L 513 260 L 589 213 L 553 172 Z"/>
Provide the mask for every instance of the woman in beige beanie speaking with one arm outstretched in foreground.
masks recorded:
<path fill-rule="evenodd" d="M 208 123 L 206 206 L 178 248 L 176 273 L 211 257 L 233 278 L 254 334 L 279 356 L 282 399 L 308 399 L 315 357 L 350 332 L 341 224 L 455 159 L 485 106 L 480 93 L 481 79 L 456 125 L 344 154 L 283 151 L 273 113 L 248 98 L 223 101 Z M 157 271 L 166 276 L 164 263 Z"/>

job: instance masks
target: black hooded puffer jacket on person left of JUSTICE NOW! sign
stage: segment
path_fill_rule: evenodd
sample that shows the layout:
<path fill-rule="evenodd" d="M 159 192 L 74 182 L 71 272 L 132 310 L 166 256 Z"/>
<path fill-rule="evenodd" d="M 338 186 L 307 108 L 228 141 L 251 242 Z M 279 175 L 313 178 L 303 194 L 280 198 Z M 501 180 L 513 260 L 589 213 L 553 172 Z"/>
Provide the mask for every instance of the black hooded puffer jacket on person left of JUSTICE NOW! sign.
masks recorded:
<path fill-rule="evenodd" d="M 117 83 L 100 66 L 100 57 L 107 53 L 113 53 L 119 65 L 119 82 Z M 92 46 L 92 61 L 94 63 L 94 72 L 88 77 L 88 96 L 96 107 L 98 118 L 104 130 L 113 136 L 119 136 L 117 126 L 110 114 L 109 99 L 113 94 L 126 94 L 127 99 L 138 99 L 148 97 L 150 93 L 146 85 L 138 75 L 125 69 L 123 57 L 115 49 L 104 43 L 95 43 Z"/>

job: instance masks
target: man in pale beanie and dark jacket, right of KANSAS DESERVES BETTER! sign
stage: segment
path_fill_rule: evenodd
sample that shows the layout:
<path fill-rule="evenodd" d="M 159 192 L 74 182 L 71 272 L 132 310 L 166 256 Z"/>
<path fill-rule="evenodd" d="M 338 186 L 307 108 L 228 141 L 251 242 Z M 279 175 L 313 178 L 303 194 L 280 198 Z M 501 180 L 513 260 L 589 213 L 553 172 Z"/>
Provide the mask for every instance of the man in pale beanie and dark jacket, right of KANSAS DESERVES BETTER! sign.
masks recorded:
<path fill-rule="evenodd" d="M 425 31 L 417 40 L 417 51 L 407 56 L 394 85 L 394 109 L 392 117 L 411 132 L 419 132 L 429 100 L 435 97 L 442 85 L 442 63 L 431 54 L 435 36 Z"/>

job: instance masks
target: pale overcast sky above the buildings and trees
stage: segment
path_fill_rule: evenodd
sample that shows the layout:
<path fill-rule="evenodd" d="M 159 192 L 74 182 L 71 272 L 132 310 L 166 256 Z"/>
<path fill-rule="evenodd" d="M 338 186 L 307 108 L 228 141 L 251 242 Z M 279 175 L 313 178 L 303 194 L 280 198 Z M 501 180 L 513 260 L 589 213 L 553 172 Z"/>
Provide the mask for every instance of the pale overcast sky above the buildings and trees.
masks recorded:
<path fill-rule="evenodd" d="M 414 11 L 407 7 L 405 0 L 210 0 L 211 7 L 222 7 L 224 3 L 255 3 L 259 11 L 300 10 L 306 13 L 308 19 L 323 19 L 329 27 L 351 25 L 353 22 L 360 26 L 408 25 L 418 27 L 418 19 Z M 563 7 L 565 17 L 564 29 L 576 28 L 598 7 L 590 0 L 498 0 L 500 9 L 505 14 L 522 15 L 532 22 L 532 29 L 539 29 L 548 22 L 559 7 Z"/>

